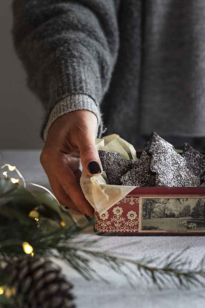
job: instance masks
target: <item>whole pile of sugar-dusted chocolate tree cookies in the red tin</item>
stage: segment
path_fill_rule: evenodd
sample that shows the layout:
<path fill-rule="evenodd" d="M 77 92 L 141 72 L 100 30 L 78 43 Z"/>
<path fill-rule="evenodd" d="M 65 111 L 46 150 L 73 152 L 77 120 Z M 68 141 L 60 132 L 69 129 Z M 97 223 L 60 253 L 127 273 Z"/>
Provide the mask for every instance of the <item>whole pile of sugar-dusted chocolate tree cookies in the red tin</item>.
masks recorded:
<path fill-rule="evenodd" d="M 205 155 L 187 143 L 180 155 L 155 132 L 137 161 L 121 158 L 119 153 L 98 153 L 111 185 L 205 187 Z"/>

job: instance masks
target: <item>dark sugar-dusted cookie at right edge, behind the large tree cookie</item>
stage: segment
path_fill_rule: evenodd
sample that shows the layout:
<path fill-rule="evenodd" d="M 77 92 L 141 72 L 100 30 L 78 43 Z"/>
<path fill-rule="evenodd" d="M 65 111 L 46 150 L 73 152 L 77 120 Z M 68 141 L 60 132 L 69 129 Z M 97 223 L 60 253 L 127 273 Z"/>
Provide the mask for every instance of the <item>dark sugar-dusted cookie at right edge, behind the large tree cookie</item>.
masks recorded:
<path fill-rule="evenodd" d="M 184 144 L 182 157 L 186 160 L 186 167 L 199 179 L 205 175 L 205 156 L 191 147 Z"/>

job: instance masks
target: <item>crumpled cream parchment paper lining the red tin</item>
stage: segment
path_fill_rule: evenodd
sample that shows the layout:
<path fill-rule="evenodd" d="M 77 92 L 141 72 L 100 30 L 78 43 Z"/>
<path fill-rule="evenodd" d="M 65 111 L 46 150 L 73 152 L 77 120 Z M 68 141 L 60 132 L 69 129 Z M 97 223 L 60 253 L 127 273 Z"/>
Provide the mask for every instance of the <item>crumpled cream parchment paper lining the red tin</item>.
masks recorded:
<path fill-rule="evenodd" d="M 96 148 L 97 150 L 118 152 L 122 158 L 137 160 L 133 145 L 116 134 L 96 139 Z M 110 209 L 112 205 L 116 204 L 136 187 L 109 185 L 105 172 L 100 176 L 88 176 L 84 170 L 82 171 L 80 184 L 85 198 L 99 214 Z"/>

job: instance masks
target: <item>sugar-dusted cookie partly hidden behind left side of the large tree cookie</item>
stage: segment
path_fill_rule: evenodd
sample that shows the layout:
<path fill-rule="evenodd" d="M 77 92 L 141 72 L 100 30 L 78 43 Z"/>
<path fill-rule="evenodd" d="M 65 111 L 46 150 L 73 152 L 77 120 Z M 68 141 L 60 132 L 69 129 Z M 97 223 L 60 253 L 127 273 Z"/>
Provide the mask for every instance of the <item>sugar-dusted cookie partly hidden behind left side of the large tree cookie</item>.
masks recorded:
<path fill-rule="evenodd" d="M 134 163 L 133 168 L 121 177 L 123 185 L 127 186 L 154 186 L 154 175 L 149 170 L 149 155 L 142 155 Z"/>

